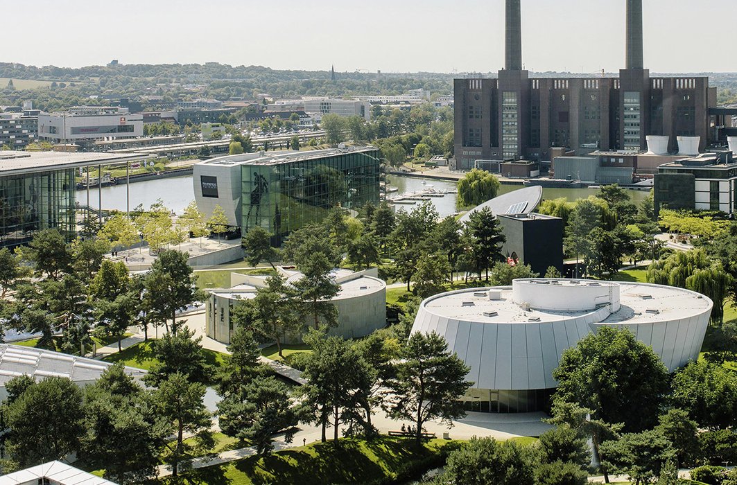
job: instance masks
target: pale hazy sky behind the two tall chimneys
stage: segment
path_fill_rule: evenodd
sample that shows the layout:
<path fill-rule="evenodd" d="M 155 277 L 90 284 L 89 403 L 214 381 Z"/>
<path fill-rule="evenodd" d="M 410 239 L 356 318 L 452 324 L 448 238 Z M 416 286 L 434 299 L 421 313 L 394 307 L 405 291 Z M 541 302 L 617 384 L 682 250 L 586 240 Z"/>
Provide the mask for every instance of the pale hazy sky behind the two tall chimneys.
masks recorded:
<path fill-rule="evenodd" d="M 737 71 L 736 0 L 644 0 L 645 65 Z M 0 61 L 488 72 L 503 66 L 503 0 L 0 1 Z M 624 0 L 522 0 L 531 71 L 624 67 Z M 12 19 L 12 20 L 10 20 Z M 17 40 L 13 40 L 17 39 Z"/>

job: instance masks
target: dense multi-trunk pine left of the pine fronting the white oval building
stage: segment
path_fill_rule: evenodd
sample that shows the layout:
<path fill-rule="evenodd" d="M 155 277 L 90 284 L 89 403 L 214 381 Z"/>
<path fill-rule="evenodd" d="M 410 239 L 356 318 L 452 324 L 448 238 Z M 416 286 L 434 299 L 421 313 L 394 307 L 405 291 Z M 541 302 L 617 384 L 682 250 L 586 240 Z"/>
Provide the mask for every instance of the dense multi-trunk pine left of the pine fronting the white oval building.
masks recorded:
<path fill-rule="evenodd" d="M 305 337 L 305 341 L 312 346 L 302 374 L 307 379 L 302 392 L 309 419 L 320 423 L 322 442 L 326 441 L 326 427 L 330 422 L 337 442 L 340 423 L 346 422 L 346 417 L 355 416 L 355 409 L 361 406 L 362 390 L 370 386 L 368 365 L 349 341 L 338 336 L 314 333 Z"/>

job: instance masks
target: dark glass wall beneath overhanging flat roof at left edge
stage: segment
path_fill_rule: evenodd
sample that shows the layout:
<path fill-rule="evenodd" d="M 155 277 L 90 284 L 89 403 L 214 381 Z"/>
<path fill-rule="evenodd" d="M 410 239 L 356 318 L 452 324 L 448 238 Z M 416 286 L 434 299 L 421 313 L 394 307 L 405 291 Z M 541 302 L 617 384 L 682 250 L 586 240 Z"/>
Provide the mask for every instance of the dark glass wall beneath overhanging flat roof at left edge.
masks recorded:
<path fill-rule="evenodd" d="M 76 189 L 74 169 L 0 177 L 0 247 L 27 243 L 43 229 L 71 237 Z"/>

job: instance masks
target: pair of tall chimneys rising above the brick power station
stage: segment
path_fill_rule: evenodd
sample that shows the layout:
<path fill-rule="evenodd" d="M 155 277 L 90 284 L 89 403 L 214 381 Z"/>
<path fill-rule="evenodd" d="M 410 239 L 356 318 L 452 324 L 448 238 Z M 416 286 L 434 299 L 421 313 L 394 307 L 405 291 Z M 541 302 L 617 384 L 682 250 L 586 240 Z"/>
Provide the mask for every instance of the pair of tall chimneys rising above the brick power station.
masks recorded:
<path fill-rule="evenodd" d="M 643 69 L 643 1 L 627 0 L 626 68 Z M 506 0 L 505 68 L 522 71 L 520 0 Z"/>

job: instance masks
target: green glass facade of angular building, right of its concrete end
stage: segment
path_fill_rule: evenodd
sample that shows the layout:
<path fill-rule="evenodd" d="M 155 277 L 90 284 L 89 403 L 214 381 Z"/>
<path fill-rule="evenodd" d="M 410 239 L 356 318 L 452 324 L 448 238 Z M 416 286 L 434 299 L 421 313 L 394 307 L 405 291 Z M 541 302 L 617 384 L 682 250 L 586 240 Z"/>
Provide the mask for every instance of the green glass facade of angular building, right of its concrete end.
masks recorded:
<path fill-rule="evenodd" d="M 358 210 L 379 202 L 378 149 L 241 166 L 242 230 L 256 225 L 277 244 L 293 230 L 319 223 L 330 208 Z"/>

